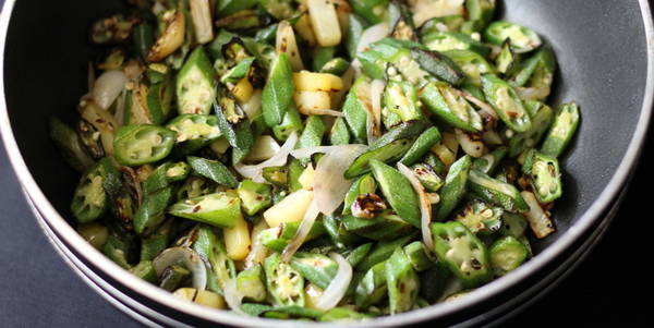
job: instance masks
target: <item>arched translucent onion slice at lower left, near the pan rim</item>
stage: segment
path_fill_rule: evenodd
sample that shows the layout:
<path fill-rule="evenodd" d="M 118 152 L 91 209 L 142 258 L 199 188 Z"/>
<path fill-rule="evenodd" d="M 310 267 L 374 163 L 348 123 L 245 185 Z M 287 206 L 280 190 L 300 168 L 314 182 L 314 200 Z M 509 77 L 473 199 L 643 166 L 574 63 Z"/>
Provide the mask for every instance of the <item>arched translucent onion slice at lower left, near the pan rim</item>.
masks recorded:
<path fill-rule="evenodd" d="M 195 251 L 189 247 L 168 248 L 153 260 L 157 276 L 171 265 L 183 265 L 193 275 L 193 288 L 204 290 L 207 286 L 207 268 Z"/>

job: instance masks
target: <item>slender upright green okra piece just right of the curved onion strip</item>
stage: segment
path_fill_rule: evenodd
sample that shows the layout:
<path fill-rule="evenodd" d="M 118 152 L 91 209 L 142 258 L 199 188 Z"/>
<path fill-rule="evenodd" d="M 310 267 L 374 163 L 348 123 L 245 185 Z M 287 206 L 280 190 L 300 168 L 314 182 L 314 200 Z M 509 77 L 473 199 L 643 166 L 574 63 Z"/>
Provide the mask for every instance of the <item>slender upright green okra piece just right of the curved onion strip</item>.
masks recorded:
<path fill-rule="evenodd" d="M 470 156 L 465 155 L 450 167 L 440 192 L 440 205 L 436 210 L 436 220 L 445 220 L 463 198 L 471 166 L 472 160 Z"/>

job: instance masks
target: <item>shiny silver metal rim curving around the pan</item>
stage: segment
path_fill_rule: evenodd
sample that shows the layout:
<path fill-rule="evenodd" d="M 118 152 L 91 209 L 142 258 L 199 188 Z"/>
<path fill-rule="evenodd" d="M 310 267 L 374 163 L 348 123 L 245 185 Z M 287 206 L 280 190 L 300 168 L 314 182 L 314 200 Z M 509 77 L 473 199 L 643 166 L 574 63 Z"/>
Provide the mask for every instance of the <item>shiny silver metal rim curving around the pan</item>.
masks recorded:
<path fill-rule="evenodd" d="M 243 317 L 230 312 L 211 311 L 199 305 L 190 304 L 182 300 L 178 300 L 170 293 L 154 287 L 135 276 L 131 275 L 126 270 L 122 269 L 109 258 L 104 256 L 99 251 L 90 246 L 84 241 L 77 232 L 65 221 L 65 219 L 55 209 L 48 198 L 39 189 L 38 184 L 29 173 L 25 160 L 22 157 L 21 150 L 19 149 L 17 143 L 13 135 L 13 130 L 9 120 L 9 113 L 7 110 L 7 100 L 4 94 L 4 49 L 7 41 L 7 33 L 9 31 L 11 14 L 16 0 L 5 0 L 0 14 L 0 132 L 2 134 L 2 141 L 4 143 L 8 157 L 16 174 L 22 187 L 29 195 L 35 206 L 44 214 L 44 218 L 47 223 L 56 230 L 61 238 L 63 238 L 69 245 L 71 245 L 77 254 L 85 257 L 88 263 L 92 263 L 95 267 L 101 269 L 106 275 L 112 279 L 120 281 L 124 287 L 137 292 L 138 294 L 150 299 L 164 306 L 173 308 L 181 313 L 185 313 L 205 320 L 221 323 L 232 326 L 247 325 L 250 327 L 269 327 L 269 325 L 277 323 L 278 320 Z M 396 327 L 399 325 L 416 324 L 438 317 L 445 317 L 452 314 L 461 308 L 470 307 L 481 302 L 484 302 L 493 295 L 507 290 L 525 279 L 531 272 L 537 271 L 544 267 L 547 263 L 553 260 L 558 253 L 569 247 L 586 229 L 589 229 L 596 220 L 600 219 L 602 212 L 611 204 L 611 201 L 618 195 L 620 190 L 626 185 L 627 179 L 631 169 L 635 166 L 637 160 L 641 153 L 641 146 L 643 145 L 649 124 L 652 114 L 652 105 L 654 100 L 654 25 L 652 22 L 652 13 L 647 0 L 639 0 L 642 21 L 645 29 L 646 47 L 647 47 L 647 70 L 646 70 L 646 84 L 645 95 L 643 98 L 642 108 L 635 131 L 633 132 L 632 138 L 629 142 L 629 146 L 618 169 L 611 175 L 608 184 L 602 191 L 600 196 L 593 201 L 589 209 L 581 215 L 578 221 L 569 227 L 569 229 L 562 233 L 559 239 L 552 245 L 543 250 L 532 260 L 525 263 L 523 266 L 518 268 L 511 275 L 501 277 L 484 287 L 481 287 L 471 293 L 471 297 L 462 297 L 460 300 L 439 304 L 436 306 L 429 306 L 409 313 L 376 318 L 374 320 L 362 321 L 362 323 L 338 323 L 338 324 L 320 324 L 328 327 Z M 300 323 L 300 321 L 288 321 L 284 326 L 288 327 L 308 327 L 308 325 L 316 325 L 316 323 Z"/>

